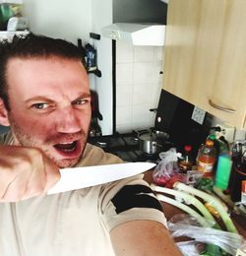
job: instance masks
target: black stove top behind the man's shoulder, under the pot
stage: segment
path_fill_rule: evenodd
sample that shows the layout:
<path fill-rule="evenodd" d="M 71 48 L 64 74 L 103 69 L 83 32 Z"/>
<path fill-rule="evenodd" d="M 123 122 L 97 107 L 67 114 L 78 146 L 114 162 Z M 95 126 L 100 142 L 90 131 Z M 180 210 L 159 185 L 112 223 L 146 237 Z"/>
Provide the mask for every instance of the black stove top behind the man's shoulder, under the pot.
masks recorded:
<path fill-rule="evenodd" d="M 125 161 L 150 161 L 154 163 L 159 161 L 158 154 L 146 154 L 140 150 L 137 131 L 124 134 L 117 132 L 114 135 L 92 137 L 89 138 L 89 143 Z M 168 150 L 169 148 L 170 143 L 167 143 L 164 149 Z"/>

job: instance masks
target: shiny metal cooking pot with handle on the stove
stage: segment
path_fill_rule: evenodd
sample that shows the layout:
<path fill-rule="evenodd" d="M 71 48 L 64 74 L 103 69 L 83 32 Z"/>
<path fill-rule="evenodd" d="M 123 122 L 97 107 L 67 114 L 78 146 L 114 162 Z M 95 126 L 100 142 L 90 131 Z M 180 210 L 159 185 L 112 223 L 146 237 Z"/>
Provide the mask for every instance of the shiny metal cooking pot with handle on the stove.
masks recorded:
<path fill-rule="evenodd" d="M 159 153 L 168 137 L 166 133 L 156 133 L 154 130 L 139 132 L 140 150 L 147 154 Z"/>

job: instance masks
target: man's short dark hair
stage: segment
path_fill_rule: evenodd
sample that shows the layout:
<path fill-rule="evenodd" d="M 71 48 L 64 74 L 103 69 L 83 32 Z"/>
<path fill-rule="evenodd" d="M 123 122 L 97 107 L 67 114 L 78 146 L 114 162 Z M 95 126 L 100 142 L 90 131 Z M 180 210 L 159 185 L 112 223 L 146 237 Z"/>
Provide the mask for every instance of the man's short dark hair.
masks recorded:
<path fill-rule="evenodd" d="M 0 97 L 8 110 L 10 110 L 6 76 L 8 61 L 12 58 L 47 58 L 50 56 L 76 59 L 85 64 L 80 48 L 64 39 L 30 32 L 27 35 L 15 35 L 11 41 L 6 39 L 0 42 Z"/>

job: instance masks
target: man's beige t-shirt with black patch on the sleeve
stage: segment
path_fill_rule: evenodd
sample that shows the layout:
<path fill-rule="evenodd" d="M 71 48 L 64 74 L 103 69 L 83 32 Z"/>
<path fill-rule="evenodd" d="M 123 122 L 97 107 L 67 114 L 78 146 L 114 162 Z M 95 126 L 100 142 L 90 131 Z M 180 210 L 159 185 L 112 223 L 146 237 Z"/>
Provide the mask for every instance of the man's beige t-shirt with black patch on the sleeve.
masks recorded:
<path fill-rule="evenodd" d="M 0 136 L 11 144 L 12 137 Z M 79 165 L 121 162 L 87 145 Z M 118 224 L 153 220 L 166 224 L 143 175 L 75 191 L 0 203 L 1 256 L 110 256 L 109 232 Z"/>

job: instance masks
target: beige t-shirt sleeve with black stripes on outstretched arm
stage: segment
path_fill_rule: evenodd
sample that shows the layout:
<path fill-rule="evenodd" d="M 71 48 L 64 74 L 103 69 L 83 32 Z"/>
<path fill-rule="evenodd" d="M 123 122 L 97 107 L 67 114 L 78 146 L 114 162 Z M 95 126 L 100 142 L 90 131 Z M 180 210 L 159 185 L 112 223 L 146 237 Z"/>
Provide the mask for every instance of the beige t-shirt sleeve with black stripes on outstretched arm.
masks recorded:
<path fill-rule="evenodd" d="M 99 213 L 108 231 L 131 221 L 155 221 L 166 226 L 159 201 L 143 174 L 103 186 L 99 196 Z"/>

